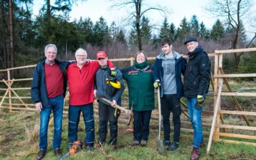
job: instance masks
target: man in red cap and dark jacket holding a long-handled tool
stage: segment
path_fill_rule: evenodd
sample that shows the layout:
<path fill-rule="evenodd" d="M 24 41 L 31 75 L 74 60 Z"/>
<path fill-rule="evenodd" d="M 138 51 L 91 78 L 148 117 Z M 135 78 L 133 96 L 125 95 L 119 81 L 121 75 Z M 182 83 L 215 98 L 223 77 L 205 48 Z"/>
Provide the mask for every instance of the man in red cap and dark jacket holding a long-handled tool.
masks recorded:
<path fill-rule="evenodd" d="M 108 121 L 109 121 L 109 130 L 110 130 L 110 138 L 109 145 L 111 147 L 116 148 L 117 145 L 117 120 L 118 113 L 113 106 L 118 104 L 121 106 L 121 95 L 124 92 L 124 82 L 122 79 L 122 73 L 120 70 L 117 70 L 117 75 L 115 77 L 109 74 L 109 66 L 108 66 L 108 57 L 106 52 L 99 51 L 97 52 L 97 60 L 99 61 L 100 68 L 96 72 L 95 75 L 95 87 L 94 87 L 94 95 L 95 97 L 103 97 L 105 99 L 110 100 L 112 103 L 108 104 L 104 100 L 99 99 L 99 144 L 103 146 L 106 143 L 106 137 L 108 134 Z M 116 81 L 120 83 L 116 84 L 117 87 L 111 86 L 111 84 L 107 84 L 106 79 L 115 78 Z M 114 81 L 115 83 L 115 81 Z"/>

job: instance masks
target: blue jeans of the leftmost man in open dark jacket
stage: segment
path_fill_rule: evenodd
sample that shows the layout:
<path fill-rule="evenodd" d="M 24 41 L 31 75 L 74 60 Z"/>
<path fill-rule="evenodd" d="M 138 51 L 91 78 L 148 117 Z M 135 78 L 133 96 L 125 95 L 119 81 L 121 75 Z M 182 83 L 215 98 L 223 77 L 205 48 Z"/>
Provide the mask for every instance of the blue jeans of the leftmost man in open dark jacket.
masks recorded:
<path fill-rule="evenodd" d="M 52 148 L 60 148 L 61 145 L 61 131 L 62 131 L 62 113 L 63 113 L 63 95 L 58 95 L 54 98 L 49 98 L 51 107 L 44 107 L 40 112 L 40 140 L 39 148 L 47 150 L 47 131 L 50 120 L 50 115 L 53 113 L 54 117 L 54 134 L 52 141 Z"/>

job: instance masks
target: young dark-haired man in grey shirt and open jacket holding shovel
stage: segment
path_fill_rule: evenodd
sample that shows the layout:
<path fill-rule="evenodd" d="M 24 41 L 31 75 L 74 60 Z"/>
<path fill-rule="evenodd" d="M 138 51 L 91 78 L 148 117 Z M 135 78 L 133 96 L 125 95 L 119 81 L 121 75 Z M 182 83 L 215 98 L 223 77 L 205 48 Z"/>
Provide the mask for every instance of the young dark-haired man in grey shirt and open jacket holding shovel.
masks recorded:
<path fill-rule="evenodd" d="M 186 60 L 178 52 L 173 51 L 172 42 L 164 38 L 161 42 L 163 52 L 154 63 L 154 87 L 160 86 L 161 109 L 164 125 L 163 143 L 168 150 L 179 147 L 180 139 L 180 97 L 183 97 L 181 74 L 184 75 Z M 173 143 L 170 143 L 170 112 L 173 115 L 174 134 Z"/>

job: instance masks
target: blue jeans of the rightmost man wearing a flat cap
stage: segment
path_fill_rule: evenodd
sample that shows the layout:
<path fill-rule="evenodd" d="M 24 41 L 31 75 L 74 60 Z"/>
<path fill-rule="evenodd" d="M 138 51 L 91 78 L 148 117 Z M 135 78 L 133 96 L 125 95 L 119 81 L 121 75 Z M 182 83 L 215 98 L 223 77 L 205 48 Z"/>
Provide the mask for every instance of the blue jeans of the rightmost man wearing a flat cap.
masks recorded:
<path fill-rule="evenodd" d="M 202 127 L 202 110 L 203 108 L 200 107 L 200 109 L 196 109 L 196 98 L 187 98 L 187 104 L 188 104 L 188 115 L 190 118 L 190 121 L 192 123 L 192 127 L 194 129 L 194 140 L 193 140 L 193 147 L 200 148 L 200 143 L 204 141 L 203 137 L 203 127 Z"/>

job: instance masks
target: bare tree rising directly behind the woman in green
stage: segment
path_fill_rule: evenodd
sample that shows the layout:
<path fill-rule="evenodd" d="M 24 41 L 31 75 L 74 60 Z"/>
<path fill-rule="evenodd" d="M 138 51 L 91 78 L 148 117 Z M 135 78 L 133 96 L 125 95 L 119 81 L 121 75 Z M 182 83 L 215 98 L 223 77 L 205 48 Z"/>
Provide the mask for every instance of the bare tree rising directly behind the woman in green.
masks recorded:
<path fill-rule="evenodd" d="M 112 7 L 122 8 L 127 7 L 131 8 L 129 15 L 127 16 L 127 20 L 129 22 L 136 22 L 136 31 L 137 31 L 137 38 L 138 38 L 138 47 L 139 50 L 142 50 L 141 45 L 141 18 L 143 15 L 146 15 L 148 12 L 152 10 L 157 10 L 160 13 L 163 13 L 163 16 L 165 16 L 166 13 L 168 13 L 167 8 L 163 6 L 147 6 L 147 4 L 144 3 L 143 0 L 110 0 L 115 1 Z M 130 7 L 131 6 L 131 7 Z"/>

